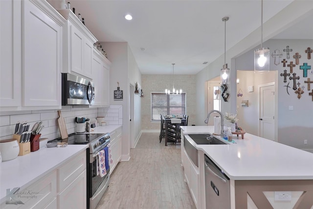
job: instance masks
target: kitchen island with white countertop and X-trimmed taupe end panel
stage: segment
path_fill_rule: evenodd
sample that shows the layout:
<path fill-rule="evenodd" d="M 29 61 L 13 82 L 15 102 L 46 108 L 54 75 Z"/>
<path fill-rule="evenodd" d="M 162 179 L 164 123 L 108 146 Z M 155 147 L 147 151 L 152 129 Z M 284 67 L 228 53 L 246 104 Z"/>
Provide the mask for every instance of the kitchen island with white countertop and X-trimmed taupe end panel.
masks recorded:
<path fill-rule="evenodd" d="M 232 209 L 246 209 L 252 204 L 258 208 L 273 208 L 274 205 L 275 209 L 286 208 L 288 203 L 290 206 L 297 204 L 296 208 L 299 209 L 310 209 L 313 206 L 313 200 L 309 200 L 313 196 L 312 153 L 248 133 L 245 139 L 233 135 L 235 143 L 228 143 L 216 136 L 227 142 L 224 145 L 200 145 L 188 136 L 213 131 L 213 126 L 181 126 L 181 136 L 185 136 L 185 140 L 199 151 L 199 166 L 195 166 L 184 151 L 182 143 L 182 164 L 184 169 L 189 166 L 185 178 L 188 179 L 189 175 L 189 180 L 186 181 L 187 184 L 189 182 L 188 186 L 197 208 L 205 208 L 204 154 L 230 179 Z M 192 176 L 198 180 L 192 180 Z M 194 185 L 195 182 L 198 186 Z M 263 191 L 266 191 L 264 195 Z M 292 201 L 274 201 L 274 191 L 291 191 Z"/>

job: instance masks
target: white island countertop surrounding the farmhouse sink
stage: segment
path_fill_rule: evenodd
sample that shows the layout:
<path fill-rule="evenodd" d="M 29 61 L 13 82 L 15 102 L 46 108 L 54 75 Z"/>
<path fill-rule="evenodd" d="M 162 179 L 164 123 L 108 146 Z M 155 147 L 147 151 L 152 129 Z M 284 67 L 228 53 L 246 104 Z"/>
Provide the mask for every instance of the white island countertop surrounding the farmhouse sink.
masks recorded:
<path fill-rule="evenodd" d="M 213 126 L 180 127 L 184 135 L 214 132 Z M 189 136 L 186 139 L 191 140 Z M 245 139 L 233 135 L 233 140 L 236 144 L 198 145 L 192 142 L 233 180 L 313 179 L 313 153 L 248 133 Z"/>

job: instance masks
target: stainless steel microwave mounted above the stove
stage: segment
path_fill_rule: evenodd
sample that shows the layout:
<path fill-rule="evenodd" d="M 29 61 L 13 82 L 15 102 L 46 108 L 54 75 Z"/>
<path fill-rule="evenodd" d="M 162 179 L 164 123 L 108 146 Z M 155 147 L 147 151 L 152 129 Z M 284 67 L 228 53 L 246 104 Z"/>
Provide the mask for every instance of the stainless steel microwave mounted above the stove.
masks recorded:
<path fill-rule="evenodd" d="M 94 104 L 94 86 L 89 79 L 62 73 L 62 106 Z"/>

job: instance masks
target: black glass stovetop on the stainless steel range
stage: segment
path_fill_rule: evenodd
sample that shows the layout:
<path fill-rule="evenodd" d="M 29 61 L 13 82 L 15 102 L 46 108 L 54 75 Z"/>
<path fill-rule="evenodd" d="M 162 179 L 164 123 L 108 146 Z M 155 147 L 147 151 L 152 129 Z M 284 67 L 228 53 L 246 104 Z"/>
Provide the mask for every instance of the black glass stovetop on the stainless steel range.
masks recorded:
<path fill-rule="evenodd" d="M 53 139 L 48 142 L 67 142 L 67 144 L 89 144 L 91 141 L 103 136 L 104 134 L 70 134 L 66 139 Z"/>

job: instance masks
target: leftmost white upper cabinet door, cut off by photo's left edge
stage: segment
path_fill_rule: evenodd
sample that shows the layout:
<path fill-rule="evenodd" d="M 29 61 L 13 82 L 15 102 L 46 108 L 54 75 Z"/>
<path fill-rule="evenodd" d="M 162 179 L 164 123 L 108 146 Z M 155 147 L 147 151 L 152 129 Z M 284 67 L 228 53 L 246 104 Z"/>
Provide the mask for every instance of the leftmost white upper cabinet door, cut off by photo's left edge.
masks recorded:
<path fill-rule="evenodd" d="M 22 104 L 21 9 L 21 0 L 0 0 L 1 107 L 21 106 Z"/>

